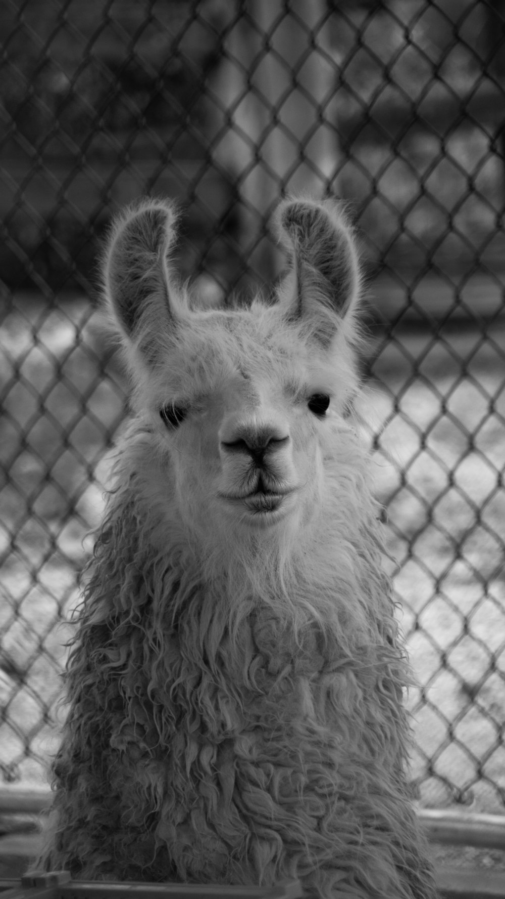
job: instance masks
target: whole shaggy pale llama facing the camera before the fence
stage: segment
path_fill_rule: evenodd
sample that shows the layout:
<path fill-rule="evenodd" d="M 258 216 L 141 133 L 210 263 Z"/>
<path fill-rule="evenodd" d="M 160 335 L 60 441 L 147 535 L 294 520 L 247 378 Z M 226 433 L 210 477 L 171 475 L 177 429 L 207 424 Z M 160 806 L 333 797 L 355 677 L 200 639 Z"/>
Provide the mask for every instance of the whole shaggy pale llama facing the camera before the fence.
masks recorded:
<path fill-rule="evenodd" d="M 285 200 L 275 297 L 199 308 L 176 215 L 111 231 L 133 417 L 66 672 L 46 869 L 434 895 L 409 681 L 357 414 L 360 271 L 332 201 Z"/>

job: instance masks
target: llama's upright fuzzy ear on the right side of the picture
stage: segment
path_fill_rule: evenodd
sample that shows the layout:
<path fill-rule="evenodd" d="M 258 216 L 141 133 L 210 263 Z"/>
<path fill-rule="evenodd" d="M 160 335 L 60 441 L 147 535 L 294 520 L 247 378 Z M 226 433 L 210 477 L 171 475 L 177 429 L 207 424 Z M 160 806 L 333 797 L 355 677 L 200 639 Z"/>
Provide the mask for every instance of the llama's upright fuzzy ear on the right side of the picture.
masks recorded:
<path fill-rule="evenodd" d="M 292 321 L 305 319 L 327 345 L 359 293 L 352 229 L 329 200 L 285 200 L 278 217 L 281 239 L 292 257 L 281 302 Z"/>

